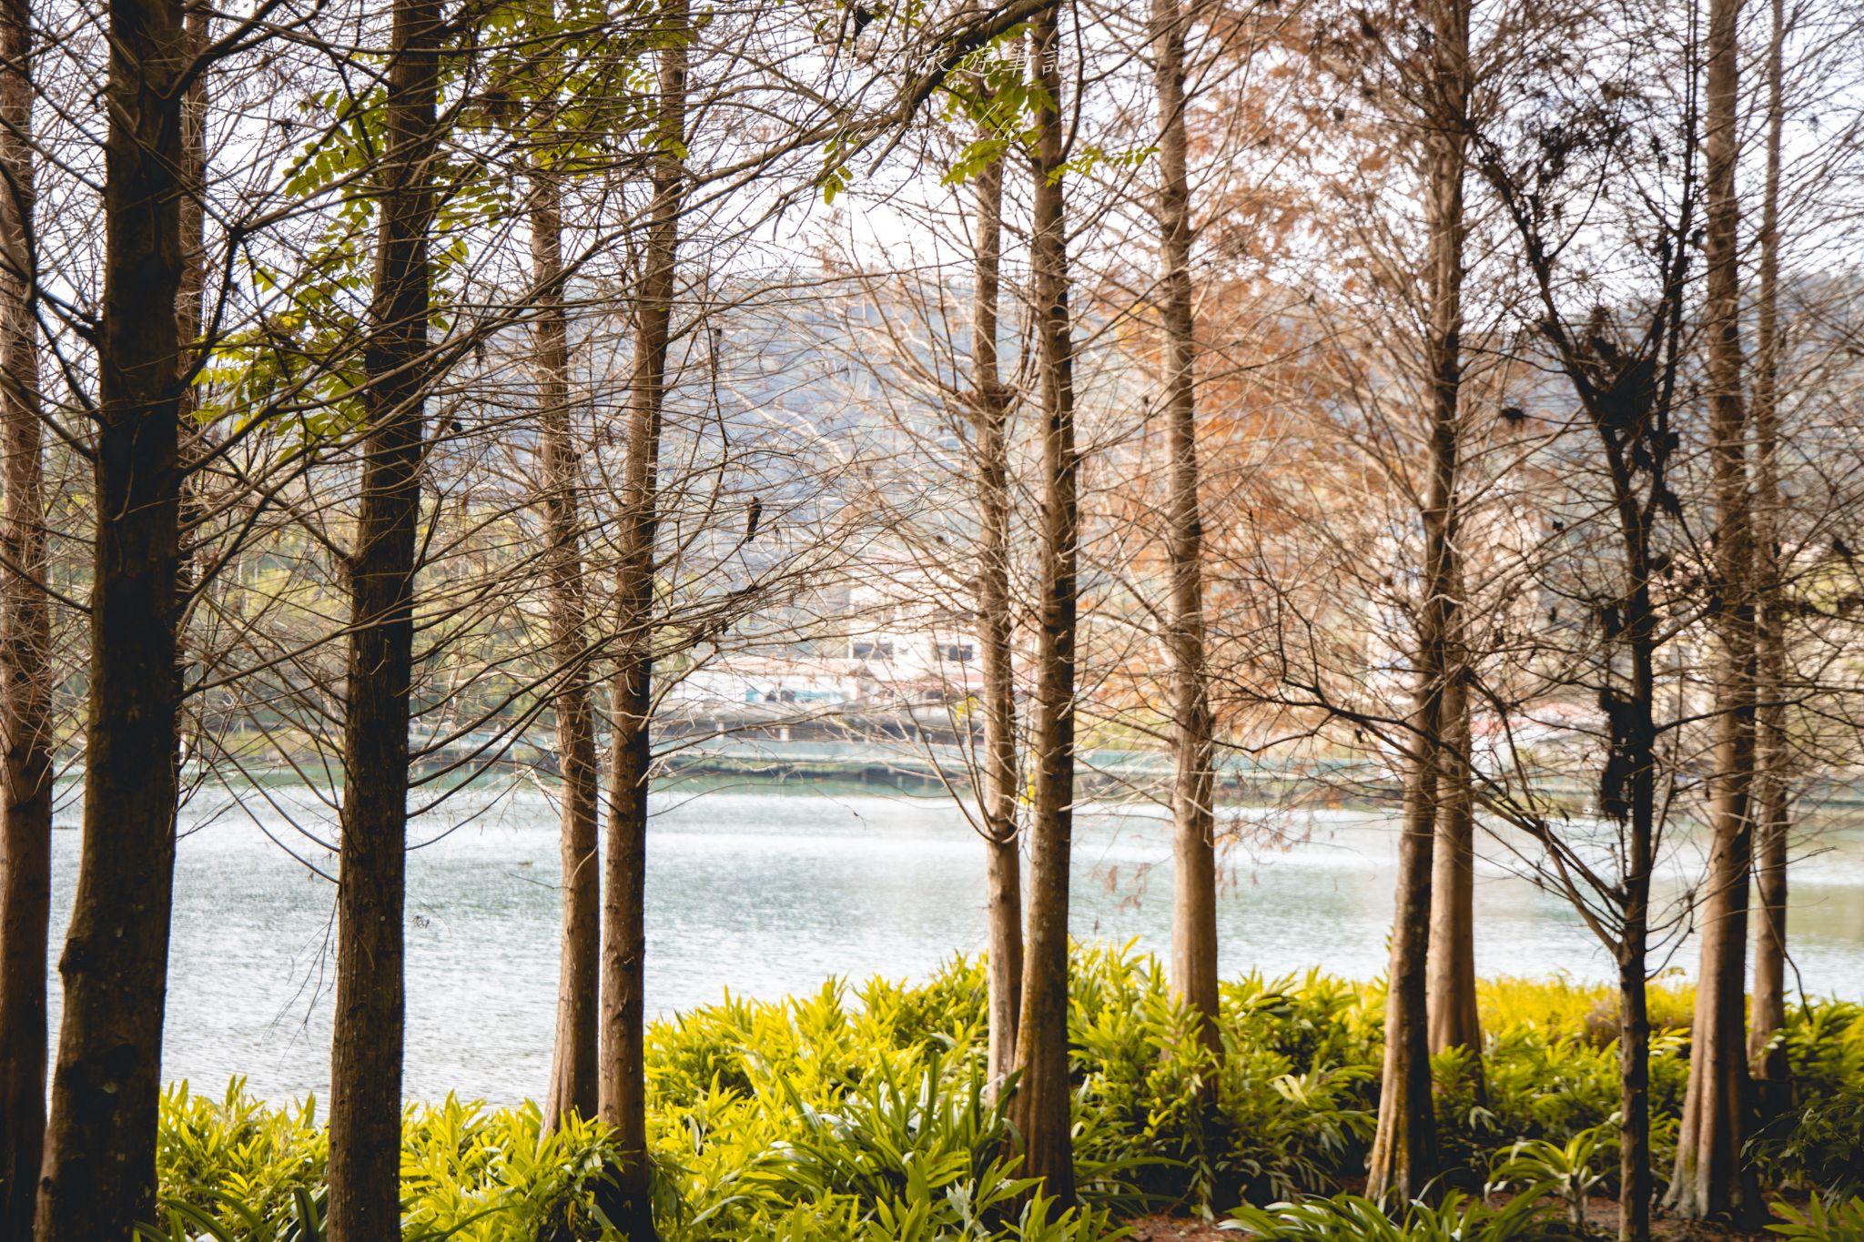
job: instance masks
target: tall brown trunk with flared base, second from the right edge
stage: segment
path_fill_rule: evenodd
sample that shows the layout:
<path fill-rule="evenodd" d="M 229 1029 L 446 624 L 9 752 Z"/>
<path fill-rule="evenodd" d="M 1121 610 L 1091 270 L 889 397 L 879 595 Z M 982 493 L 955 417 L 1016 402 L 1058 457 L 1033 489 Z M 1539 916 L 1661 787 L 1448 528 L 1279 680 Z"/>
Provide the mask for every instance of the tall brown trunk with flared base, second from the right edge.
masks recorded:
<path fill-rule="evenodd" d="M 1737 24 L 1741 0 L 1709 4 L 1709 67 L 1704 125 L 1707 238 L 1704 318 L 1709 337 L 1709 456 L 1715 473 L 1717 730 L 1713 804 L 1715 844 L 1707 896 L 1700 907 L 1702 965 L 1691 1030 L 1689 1087 L 1676 1145 L 1668 1207 L 1678 1216 L 1760 1214 L 1754 1171 L 1741 1160 L 1750 1106 L 1745 983 L 1748 866 L 1754 773 L 1754 600 L 1748 482 L 1741 400 L 1739 220 L 1735 199 L 1739 97 Z"/>

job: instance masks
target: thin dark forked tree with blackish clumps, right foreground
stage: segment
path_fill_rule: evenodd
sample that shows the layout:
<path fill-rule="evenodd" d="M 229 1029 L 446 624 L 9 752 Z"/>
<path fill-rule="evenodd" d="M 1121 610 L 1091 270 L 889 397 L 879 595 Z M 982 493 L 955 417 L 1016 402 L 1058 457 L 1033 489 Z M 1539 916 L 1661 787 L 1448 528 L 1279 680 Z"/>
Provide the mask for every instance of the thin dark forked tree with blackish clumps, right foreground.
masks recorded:
<path fill-rule="evenodd" d="M 1661 102 L 1653 115 L 1642 117 L 1674 134 L 1670 142 L 1678 151 L 1655 169 L 1633 171 L 1631 162 L 1644 160 L 1644 127 L 1596 104 L 1596 99 L 1610 97 L 1616 80 L 1638 73 L 1644 71 L 1635 56 L 1627 63 L 1597 67 L 1596 80 L 1588 80 L 1566 104 L 1564 143 L 1510 151 L 1489 132 L 1478 132 L 1478 168 L 1517 235 L 1540 309 L 1538 335 L 1597 443 L 1596 471 L 1603 480 L 1596 508 L 1603 525 L 1599 562 L 1556 555 L 1553 620 L 1558 624 L 1558 601 L 1583 605 L 1596 622 L 1599 646 L 1577 665 L 1555 665 L 1551 680 L 1556 685 L 1571 682 L 1596 695 L 1603 717 L 1597 806 L 1614 834 L 1603 847 L 1584 842 L 1583 834 L 1568 836 L 1530 782 L 1502 803 L 1484 799 L 1484 804 L 1525 812 L 1508 819 L 1543 853 L 1543 883 L 1566 896 L 1616 965 L 1620 1236 L 1627 1242 L 1650 1236 L 1646 983 L 1652 937 L 1659 929 L 1652 914 L 1652 879 L 1670 806 L 1666 776 L 1674 782 L 1678 769 L 1676 747 L 1663 747 L 1678 722 L 1665 719 L 1661 709 L 1666 687 L 1659 657 L 1678 637 L 1666 613 L 1691 611 L 1687 583 L 1679 583 L 1674 572 L 1683 542 L 1676 529 L 1683 516 L 1676 492 L 1676 425 L 1691 333 L 1685 313 L 1689 236 L 1698 207 L 1693 106 L 1683 104 L 1679 127 Z M 1594 186 L 1612 179 L 1625 179 L 1629 186 L 1635 177 L 1646 175 L 1674 177 L 1674 194 L 1648 194 L 1633 186 L 1624 196 L 1625 223 L 1601 212 L 1601 225 L 1612 223 L 1637 235 L 1650 231 L 1659 238 L 1642 257 L 1650 290 L 1635 304 L 1638 318 L 1620 324 L 1573 276 L 1571 268 L 1581 268 L 1588 255 L 1558 244 L 1555 229 L 1569 196 L 1590 196 Z M 1581 305 L 1590 302 L 1579 322 L 1569 317 L 1568 298 Z M 1555 534 L 1560 536 L 1553 542 L 1556 553 L 1573 542 L 1564 529 Z"/>

